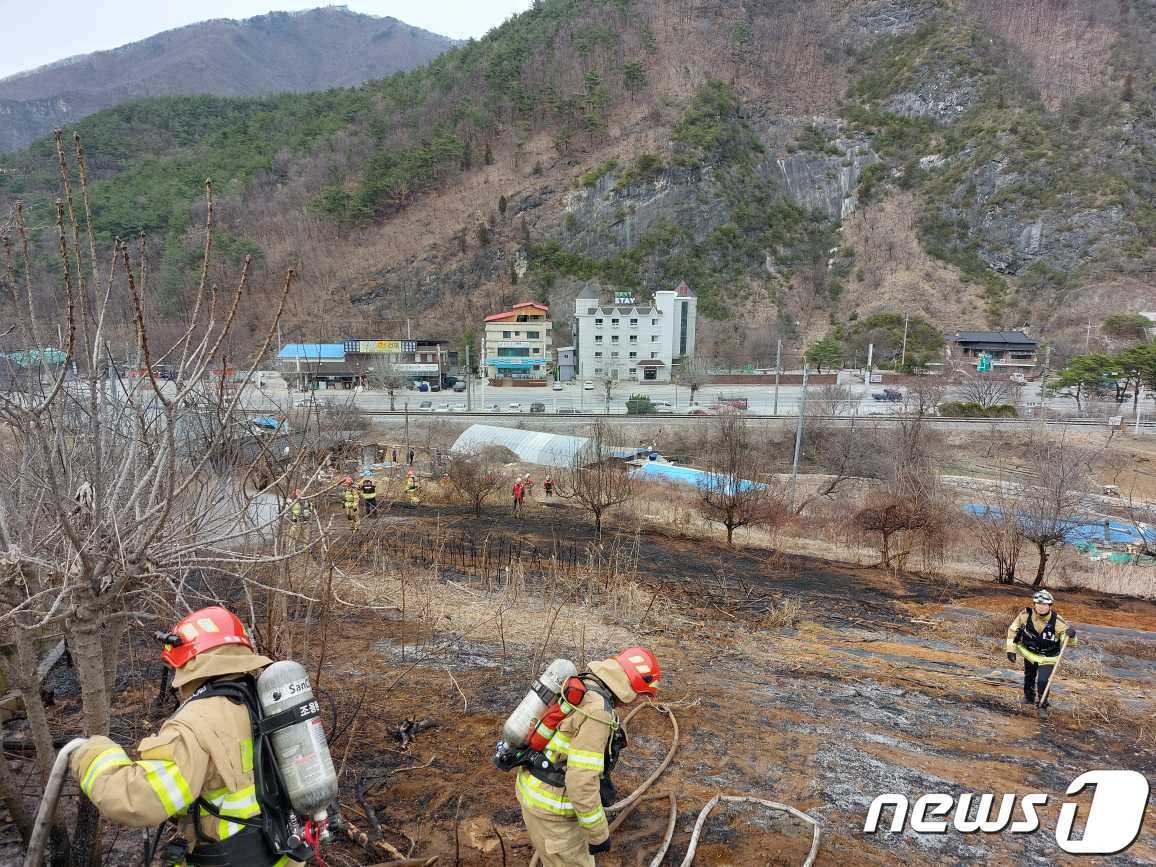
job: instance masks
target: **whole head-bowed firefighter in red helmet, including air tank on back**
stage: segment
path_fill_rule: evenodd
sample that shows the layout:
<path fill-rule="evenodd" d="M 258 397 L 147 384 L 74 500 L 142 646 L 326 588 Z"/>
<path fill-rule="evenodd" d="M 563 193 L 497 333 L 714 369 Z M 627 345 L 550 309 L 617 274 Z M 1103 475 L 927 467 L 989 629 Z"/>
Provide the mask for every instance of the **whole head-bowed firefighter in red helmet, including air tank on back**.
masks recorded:
<path fill-rule="evenodd" d="M 627 746 L 615 707 L 655 695 L 661 674 L 643 647 L 591 662 L 580 675 L 555 660 L 506 721 L 494 763 L 518 769 L 514 791 L 543 867 L 594 867 L 594 855 L 610 850 L 609 775 Z"/>

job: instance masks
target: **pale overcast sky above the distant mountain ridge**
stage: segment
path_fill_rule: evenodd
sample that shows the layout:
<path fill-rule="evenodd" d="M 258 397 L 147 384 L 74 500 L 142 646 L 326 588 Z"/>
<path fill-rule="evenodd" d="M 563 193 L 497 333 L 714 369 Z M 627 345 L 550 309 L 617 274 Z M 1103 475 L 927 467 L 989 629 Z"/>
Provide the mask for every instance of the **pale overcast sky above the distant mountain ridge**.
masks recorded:
<path fill-rule="evenodd" d="M 482 36 L 531 0 L 348 0 L 354 12 L 465 39 Z M 324 0 L 0 0 L 0 77 L 53 60 L 104 51 L 207 18 L 327 6 Z"/>

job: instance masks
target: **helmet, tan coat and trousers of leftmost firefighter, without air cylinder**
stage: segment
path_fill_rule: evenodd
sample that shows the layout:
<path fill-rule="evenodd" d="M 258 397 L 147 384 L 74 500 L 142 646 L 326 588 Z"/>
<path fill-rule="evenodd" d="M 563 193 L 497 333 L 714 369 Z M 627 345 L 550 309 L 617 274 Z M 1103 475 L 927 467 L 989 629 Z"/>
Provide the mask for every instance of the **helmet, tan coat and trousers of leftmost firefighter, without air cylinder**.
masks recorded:
<path fill-rule="evenodd" d="M 89 738 L 71 758 L 81 791 L 119 824 L 146 828 L 176 820 L 180 837 L 165 852 L 166 864 L 299 864 L 272 852 L 258 829 L 229 821 L 261 813 L 246 709 L 224 697 L 187 701 L 209 681 L 255 675 L 272 660 L 254 652 L 242 622 L 220 607 L 194 612 L 157 637 L 181 705 L 160 732 L 140 742 L 135 761 L 110 739 Z M 190 815 L 194 805 L 195 825 Z"/>

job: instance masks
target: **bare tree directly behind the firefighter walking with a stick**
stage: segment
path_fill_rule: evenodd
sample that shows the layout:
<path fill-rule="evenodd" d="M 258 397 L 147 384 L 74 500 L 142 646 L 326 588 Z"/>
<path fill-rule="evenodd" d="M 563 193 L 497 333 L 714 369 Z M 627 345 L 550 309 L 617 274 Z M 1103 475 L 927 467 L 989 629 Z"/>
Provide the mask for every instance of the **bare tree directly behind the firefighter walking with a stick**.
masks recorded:
<path fill-rule="evenodd" d="M 1036 433 L 1025 459 L 1028 476 L 1021 488 L 1017 516 L 1023 538 L 1036 546 L 1039 565 L 1033 587 L 1044 584 L 1052 548 L 1064 544 L 1087 514 L 1091 482 L 1091 454 L 1068 440 Z"/>

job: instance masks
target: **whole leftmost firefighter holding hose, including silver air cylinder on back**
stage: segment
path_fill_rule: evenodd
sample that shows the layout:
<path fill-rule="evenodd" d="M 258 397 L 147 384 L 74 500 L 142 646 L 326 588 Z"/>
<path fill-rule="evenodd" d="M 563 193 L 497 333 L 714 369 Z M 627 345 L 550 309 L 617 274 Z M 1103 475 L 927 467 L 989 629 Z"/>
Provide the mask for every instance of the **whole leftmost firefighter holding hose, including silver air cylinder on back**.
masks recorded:
<path fill-rule="evenodd" d="M 150 836 L 146 864 L 153 864 L 157 850 L 162 865 L 191 867 L 284 867 L 310 860 L 311 845 L 294 836 L 303 833 L 294 807 L 298 795 L 289 794 L 290 777 L 269 764 L 274 747 L 268 733 L 302 725 L 303 716 L 306 725 L 316 722 L 318 728 L 320 720 L 316 713 L 313 719 L 299 714 L 304 705 L 294 706 L 294 721 L 280 720 L 279 728 L 275 717 L 261 716 L 266 698 L 258 698 L 259 691 L 269 690 L 266 667 L 289 666 L 294 679 L 305 677 L 304 669 L 258 654 L 237 616 L 220 607 L 195 612 L 157 637 L 164 642 L 161 655 L 172 669 L 180 706 L 157 734 L 140 742 L 139 759 L 129 758 L 109 738 L 87 739 L 69 761 L 81 791 L 112 822 L 162 825 Z M 294 686 L 303 686 L 298 695 L 307 690 L 312 696 L 307 679 Z M 317 734 L 316 742 L 323 743 L 324 733 Z M 309 764 L 313 773 L 311 762 L 318 755 L 313 749 L 298 750 L 292 758 L 303 770 Z M 280 766 L 282 759 L 275 761 Z M 326 788 L 318 794 L 328 803 L 326 799 L 336 795 L 336 776 L 327 746 L 324 762 L 314 781 L 324 783 Z M 161 846 L 169 820 L 177 823 L 179 835 Z M 310 828 L 305 825 L 305 837 Z"/>

